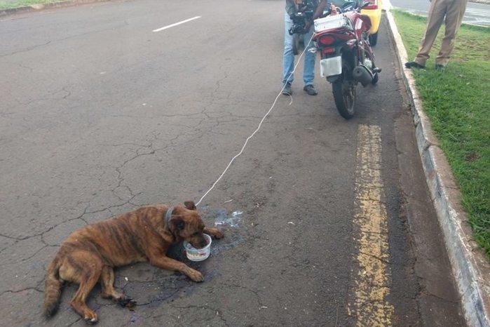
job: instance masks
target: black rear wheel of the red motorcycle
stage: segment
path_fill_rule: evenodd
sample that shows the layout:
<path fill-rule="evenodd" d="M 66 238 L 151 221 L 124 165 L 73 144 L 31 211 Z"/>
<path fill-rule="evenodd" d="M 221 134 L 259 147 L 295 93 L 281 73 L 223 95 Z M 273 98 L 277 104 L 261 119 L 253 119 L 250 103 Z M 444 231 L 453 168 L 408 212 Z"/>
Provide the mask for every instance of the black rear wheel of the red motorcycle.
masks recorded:
<path fill-rule="evenodd" d="M 345 119 L 351 119 L 355 114 L 357 102 L 357 83 L 351 79 L 352 69 L 348 62 L 343 61 L 342 76 L 332 84 L 334 100 L 339 114 Z"/>

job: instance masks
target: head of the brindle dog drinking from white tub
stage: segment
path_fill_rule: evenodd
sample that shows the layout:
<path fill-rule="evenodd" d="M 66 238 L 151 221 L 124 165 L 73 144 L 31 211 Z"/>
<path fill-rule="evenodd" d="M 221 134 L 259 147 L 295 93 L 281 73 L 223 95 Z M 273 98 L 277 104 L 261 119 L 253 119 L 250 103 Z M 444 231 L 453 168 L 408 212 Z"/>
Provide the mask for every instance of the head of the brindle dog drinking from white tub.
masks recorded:
<path fill-rule="evenodd" d="M 185 201 L 184 206 L 175 206 L 169 225 L 170 232 L 177 236 L 177 239 L 188 241 L 194 248 L 207 245 L 203 234 L 204 222 L 193 201 Z"/>

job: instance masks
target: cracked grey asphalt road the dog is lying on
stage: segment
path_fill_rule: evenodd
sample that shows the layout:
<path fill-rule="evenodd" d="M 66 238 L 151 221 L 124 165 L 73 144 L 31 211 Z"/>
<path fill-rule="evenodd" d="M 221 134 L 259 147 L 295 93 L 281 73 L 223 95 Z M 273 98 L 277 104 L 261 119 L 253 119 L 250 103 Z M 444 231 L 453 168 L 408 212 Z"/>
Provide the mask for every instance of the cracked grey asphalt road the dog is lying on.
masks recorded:
<path fill-rule="evenodd" d="M 83 326 L 74 286 L 53 319 L 41 316 L 58 245 L 144 203 L 199 199 L 271 107 L 282 48 L 283 1 L 111 1 L 2 18 L 0 325 Z M 205 281 L 117 269 L 139 305 L 95 289 L 100 326 L 461 326 L 385 23 L 376 54 L 381 79 L 360 90 L 351 121 L 326 81 L 317 97 L 301 91 L 300 65 L 292 101 L 280 98 L 198 208 L 208 225 L 226 220 L 212 257 L 193 264 Z"/>

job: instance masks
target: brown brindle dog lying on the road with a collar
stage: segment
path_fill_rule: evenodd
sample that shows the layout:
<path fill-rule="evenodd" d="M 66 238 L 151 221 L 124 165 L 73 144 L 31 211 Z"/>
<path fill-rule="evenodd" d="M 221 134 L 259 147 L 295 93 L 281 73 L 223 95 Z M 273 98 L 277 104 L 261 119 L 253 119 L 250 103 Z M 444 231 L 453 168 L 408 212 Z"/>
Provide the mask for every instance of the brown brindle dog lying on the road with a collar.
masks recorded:
<path fill-rule="evenodd" d="M 144 206 L 76 230 L 62 243 L 48 267 L 44 313 L 51 316 L 56 312 L 64 281 L 79 283 L 70 305 L 88 323 L 97 322 L 97 314 L 86 305 L 97 281 L 102 286 L 103 298 L 132 307 L 136 302 L 114 289 L 114 267 L 135 262 L 149 261 L 156 267 L 182 272 L 193 281 L 203 281 L 200 272 L 165 255 L 172 244 L 182 240 L 202 248 L 206 245 L 203 233 L 217 239 L 224 236 L 219 229 L 204 226 L 192 201 L 174 208 Z"/>

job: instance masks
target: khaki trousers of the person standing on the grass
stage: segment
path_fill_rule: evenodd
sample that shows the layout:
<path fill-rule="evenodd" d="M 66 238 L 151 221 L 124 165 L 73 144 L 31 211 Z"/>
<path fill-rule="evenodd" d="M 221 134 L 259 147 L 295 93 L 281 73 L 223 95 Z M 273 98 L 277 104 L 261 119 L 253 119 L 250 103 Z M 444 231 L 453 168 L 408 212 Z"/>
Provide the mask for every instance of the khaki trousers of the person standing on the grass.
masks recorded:
<path fill-rule="evenodd" d="M 468 0 L 432 0 L 427 18 L 427 29 L 424 34 L 420 48 L 415 58 L 418 65 L 425 66 L 429 58 L 430 48 L 432 48 L 437 32 L 446 18 L 446 32 L 442 39 L 441 49 L 437 58 L 436 65 L 447 65 L 456 40 L 456 32 L 461 26 L 461 20 L 466 10 Z"/>

